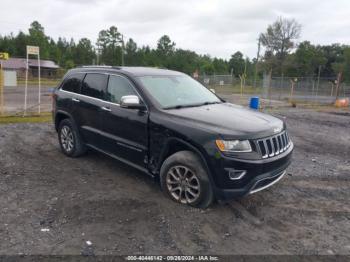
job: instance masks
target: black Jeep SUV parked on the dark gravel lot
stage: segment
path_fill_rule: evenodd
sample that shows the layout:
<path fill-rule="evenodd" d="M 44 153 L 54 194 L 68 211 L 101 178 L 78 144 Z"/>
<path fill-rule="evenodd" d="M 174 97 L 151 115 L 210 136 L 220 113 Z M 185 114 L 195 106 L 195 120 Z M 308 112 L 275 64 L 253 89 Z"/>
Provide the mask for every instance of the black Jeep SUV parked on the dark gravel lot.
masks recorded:
<path fill-rule="evenodd" d="M 283 121 L 226 103 L 189 76 L 141 67 L 70 70 L 53 94 L 64 154 L 93 148 L 159 177 L 205 208 L 280 180 L 293 151 Z"/>

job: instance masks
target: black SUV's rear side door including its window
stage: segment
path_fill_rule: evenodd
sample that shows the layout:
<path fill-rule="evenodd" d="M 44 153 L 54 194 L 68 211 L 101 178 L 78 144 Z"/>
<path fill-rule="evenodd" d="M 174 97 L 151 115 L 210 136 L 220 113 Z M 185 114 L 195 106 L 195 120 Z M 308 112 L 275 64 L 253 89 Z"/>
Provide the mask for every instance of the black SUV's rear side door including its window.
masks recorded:
<path fill-rule="evenodd" d="M 108 75 L 87 73 L 81 87 L 81 95 L 72 100 L 78 108 L 76 120 L 87 144 L 101 147 L 100 111 L 105 97 Z"/>

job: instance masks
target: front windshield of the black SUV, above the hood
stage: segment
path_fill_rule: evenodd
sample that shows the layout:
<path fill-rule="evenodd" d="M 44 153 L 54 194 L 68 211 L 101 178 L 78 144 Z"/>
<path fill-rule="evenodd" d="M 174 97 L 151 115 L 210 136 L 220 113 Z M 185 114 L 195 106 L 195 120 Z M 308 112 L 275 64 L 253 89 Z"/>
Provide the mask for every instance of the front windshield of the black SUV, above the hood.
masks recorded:
<path fill-rule="evenodd" d="M 189 76 L 140 76 L 151 96 L 163 109 L 220 103 L 206 87 Z"/>

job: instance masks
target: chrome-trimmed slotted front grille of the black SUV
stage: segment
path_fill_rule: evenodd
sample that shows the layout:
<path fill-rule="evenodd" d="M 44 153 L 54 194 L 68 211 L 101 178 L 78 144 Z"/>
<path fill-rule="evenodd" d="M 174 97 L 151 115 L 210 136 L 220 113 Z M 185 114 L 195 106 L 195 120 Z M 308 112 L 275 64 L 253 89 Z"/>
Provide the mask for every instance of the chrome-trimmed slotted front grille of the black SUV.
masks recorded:
<path fill-rule="evenodd" d="M 256 141 L 262 158 L 277 156 L 286 151 L 291 144 L 287 131 Z"/>

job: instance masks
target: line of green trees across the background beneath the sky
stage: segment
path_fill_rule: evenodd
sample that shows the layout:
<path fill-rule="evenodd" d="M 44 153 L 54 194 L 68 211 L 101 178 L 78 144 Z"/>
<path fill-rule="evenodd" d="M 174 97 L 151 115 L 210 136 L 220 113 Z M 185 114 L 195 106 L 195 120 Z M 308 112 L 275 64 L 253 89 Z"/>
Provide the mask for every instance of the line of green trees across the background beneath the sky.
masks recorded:
<path fill-rule="evenodd" d="M 193 74 L 233 74 L 253 78 L 263 73 L 272 76 L 336 78 L 338 73 L 350 82 L 350 46 L 342 44 L 314 45 L 309 41 L 296 44 L 301 25 L 294 19 L 278 18 L 259 36 L 259 46 L 264 47 L 257 57 L 250 59 L 240 51 L 230 59 L 197 54 L 177 48 L 169 36 L 159 38 L 156 48 L 138 46 L 132 39 L 124 39 L 118 28 L 101 30 L 96 43 L 87 38 L 77 42 L 59 37 L 55 41 L 45 34 L 37 21 L 31 23 L 28 33 L 0 35 L 0 52 L 11 57 L 25 57 L 26 45 L 40 47 L 42 59 L 55 61 L 69 69 L 79 65 L 152 66 Z"/>

